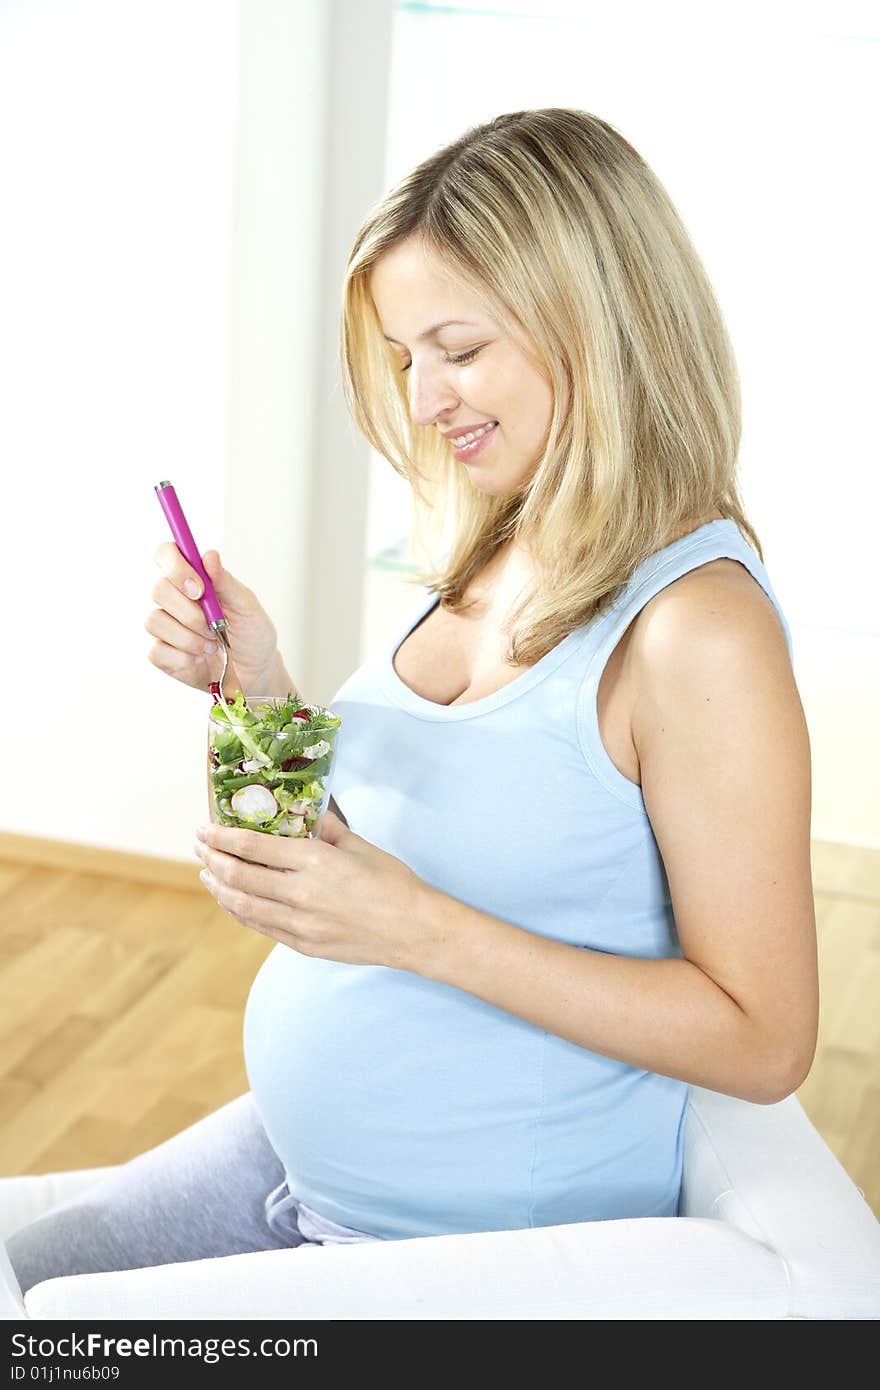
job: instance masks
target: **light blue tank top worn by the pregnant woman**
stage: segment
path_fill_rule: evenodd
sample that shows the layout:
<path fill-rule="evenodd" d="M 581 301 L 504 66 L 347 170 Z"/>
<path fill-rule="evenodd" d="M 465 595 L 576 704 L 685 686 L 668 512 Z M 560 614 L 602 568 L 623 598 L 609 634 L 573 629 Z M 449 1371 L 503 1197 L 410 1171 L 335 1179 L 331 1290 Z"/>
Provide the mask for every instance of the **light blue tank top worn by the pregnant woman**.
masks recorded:
<path fill-rule="evenodd" d="M 392 666 L 416 620 L 336 692 L 334 796 L 359 835 L 462 902 L 589 951 L 681 956 L 639 787 L 609 758 L 596 691 L 639 609 L 738 560 L 791 634 L 734 521 L 649 556 L 616 602 L 502 689 L 416 695 Z M 289 1193 L 380 1238 L 676 1216 L 688 1086 L 577 1047 L 455 986 L 277 945 L 245 1062 Z"/>

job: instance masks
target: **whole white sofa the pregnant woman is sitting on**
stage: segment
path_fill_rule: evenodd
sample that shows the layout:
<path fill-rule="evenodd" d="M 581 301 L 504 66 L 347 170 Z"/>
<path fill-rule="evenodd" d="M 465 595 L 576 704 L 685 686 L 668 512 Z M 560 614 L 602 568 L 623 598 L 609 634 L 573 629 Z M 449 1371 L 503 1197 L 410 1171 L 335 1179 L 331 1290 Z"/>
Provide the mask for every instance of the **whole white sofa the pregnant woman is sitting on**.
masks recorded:
<path fill-rule="evenodd" d="M 108 1169 L 0 1179 L 0 1237 Z M 228 1255 L 35 1284 L 6 1319 L 874 1319 L 880 1223 L 797 1095 L 694 1087 L 677 1218 Z"/>

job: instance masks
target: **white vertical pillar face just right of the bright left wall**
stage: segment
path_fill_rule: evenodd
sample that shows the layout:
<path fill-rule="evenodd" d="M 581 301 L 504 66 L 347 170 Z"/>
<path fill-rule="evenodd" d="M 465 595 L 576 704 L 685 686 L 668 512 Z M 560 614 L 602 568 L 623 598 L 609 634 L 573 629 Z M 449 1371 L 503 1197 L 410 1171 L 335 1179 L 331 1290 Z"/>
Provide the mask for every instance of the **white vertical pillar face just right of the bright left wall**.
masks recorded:
<path fill-rule="evenodd" d="M 228 274 L 229 436 L 220 553 L 271 614 L 289 674 L 309 698 L 303 653 L 317 463 L 329 14 L 323 0 L 241 3 Z M 225 404 L 217 402 L 221 411 Z M 210 478 L 199 474 L 193 496 L 209 486 Z M 200 543 L 207 549 L 211 542 Z"/>

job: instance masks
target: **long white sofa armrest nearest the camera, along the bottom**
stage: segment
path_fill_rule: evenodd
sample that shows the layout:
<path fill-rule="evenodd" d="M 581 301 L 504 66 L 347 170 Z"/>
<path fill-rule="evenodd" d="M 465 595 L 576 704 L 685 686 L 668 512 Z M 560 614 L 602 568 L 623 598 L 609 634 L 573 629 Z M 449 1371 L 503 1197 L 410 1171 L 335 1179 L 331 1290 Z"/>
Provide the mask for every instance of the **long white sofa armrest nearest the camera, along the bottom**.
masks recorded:
<path fill-rule="evenodd" d="M 774 1254 L 715 1220 L 638 1218 L 475 1232 L 76 1275 L 35 1319 L 779 1319 Z"/>

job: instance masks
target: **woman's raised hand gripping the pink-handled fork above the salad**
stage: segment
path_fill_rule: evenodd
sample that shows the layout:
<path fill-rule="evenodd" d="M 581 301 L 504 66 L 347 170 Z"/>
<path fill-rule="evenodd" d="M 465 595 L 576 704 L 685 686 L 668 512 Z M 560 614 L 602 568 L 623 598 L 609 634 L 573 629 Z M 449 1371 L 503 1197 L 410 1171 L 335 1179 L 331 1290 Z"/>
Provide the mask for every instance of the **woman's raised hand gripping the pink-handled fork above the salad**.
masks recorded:
<path fill-rule="evenodd" d="M 222 673 L 222 648 L 199 603 L 202 580 L 174 541 L 163 541 L 153 557 L 163 573 L 150 594 L 157 606 L 143 624 L 156 638 L 147 653 L 149 660 L 175 681 L 207 692 L 211 681 L 220 680 Z M 202 563 L 227 619 L 229 660 L 241 677 L 245 694 L 275 694 L 272 685 L 278 684 L 278 671 L 282 669 L 275 624 L 256 594 L 224 570 L 217 550 L 206 550 Z M 184 589 L 188 581 L 197 585 L 195 598 Z M 204 651 L 206 642 L 213 644 L 210 653 Z M 278 694 L 284 695 L 286 691 Z"/>

